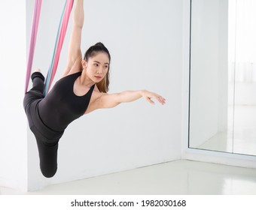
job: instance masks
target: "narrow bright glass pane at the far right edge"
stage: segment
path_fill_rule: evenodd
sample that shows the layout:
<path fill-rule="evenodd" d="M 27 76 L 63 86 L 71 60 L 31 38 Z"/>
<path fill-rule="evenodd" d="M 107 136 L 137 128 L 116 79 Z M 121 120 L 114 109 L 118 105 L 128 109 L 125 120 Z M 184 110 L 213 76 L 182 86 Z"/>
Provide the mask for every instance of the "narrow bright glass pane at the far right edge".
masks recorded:
<path fill-rule="evenodd" d="M 233 152 L 256 155 L 256 1 L 236 0 Z"/>

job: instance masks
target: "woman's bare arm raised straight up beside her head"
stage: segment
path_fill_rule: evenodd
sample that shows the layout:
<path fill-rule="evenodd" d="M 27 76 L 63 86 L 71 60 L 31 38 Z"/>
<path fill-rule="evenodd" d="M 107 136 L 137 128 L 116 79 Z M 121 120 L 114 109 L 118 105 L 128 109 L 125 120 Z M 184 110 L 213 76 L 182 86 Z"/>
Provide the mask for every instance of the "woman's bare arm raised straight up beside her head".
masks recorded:
<path fill-rule="evenodd" d="M 81 71 L 81 33 L 84 25 L 84 0 L 75 0 L 73 6 L 73 26 L 69 40 L 69 52 L 66 70 L 62 77 Z"/>

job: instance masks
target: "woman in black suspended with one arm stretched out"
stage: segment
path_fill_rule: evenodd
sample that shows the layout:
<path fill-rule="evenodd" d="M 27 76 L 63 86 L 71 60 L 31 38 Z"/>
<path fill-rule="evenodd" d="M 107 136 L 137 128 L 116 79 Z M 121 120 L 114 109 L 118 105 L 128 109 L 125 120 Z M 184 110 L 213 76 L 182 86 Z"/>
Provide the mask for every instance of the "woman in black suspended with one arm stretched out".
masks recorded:
<path fill-rule="evenodd" d="M 82 58 L 83 24 L 83 0 L 76 0 L 66 71 L 46 97 L 43 95 L 44 76 L 39 70 L 35 71 L 31 77 L 33 87 L 23 101 L 29 127 L 37 141 L 41 172 L 47 178 L 56 173 L 59 139 L 76 118 L 142 97 L 151 104 L 154 104 L 151 98 L 165 104 L 163 97 L 146 90 L 107 94 L 111 55 L 102 43 L 96 43 Z"/>

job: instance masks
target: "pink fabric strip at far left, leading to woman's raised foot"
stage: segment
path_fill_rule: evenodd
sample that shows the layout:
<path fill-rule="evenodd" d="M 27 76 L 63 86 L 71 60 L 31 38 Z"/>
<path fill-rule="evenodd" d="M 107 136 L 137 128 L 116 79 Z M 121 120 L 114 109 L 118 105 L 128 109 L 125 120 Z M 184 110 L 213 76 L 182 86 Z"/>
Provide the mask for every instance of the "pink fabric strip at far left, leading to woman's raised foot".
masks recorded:
<path fill-rule="evenodd" d="M 29 79 L 31 75 L 32 63 L 34 58 L 35 42 L 36 42 L 36 36 L 38 33 L 38 24 L 39 24 L 39 17 L 40 17 L 40 11 L 41 11 L 41 1 L 42 0 L 35 0 L 32 31 L 31 31 L 31 37 L 30 37 L 30 43 L 29 43 L 29 56 L 28 56 L 27 68 L 26 68 L 25 93 L 27 92 L 27 89 L 29 86 Z"/>

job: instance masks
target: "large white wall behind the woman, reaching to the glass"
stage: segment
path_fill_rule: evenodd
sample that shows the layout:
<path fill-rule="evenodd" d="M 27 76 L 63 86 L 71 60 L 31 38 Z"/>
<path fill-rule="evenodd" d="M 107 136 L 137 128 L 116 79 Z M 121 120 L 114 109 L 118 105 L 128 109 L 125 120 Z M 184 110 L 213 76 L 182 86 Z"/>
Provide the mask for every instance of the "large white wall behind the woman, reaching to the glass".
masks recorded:
<path fill-rule="evenodd" d="M 27 3 L 30 31 L 33 1 Z M 43 1 L 34 68 L 44 75 L 63 4 Z M 102 41 L 110 50 L 110 92 L 149 89 L 163 95 L 167 104 L 139 100 L 79 118 L 59 142 L 59 169 L 53 178 L 41 175 L 29 132 L 29 190 L 181 158 L 182 7 L 180 0 L 84 1 L 82 49 Z M 71 24 L 56 78 L 66 64 Z"/>

